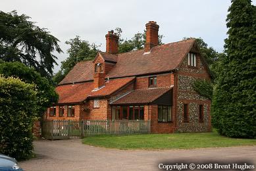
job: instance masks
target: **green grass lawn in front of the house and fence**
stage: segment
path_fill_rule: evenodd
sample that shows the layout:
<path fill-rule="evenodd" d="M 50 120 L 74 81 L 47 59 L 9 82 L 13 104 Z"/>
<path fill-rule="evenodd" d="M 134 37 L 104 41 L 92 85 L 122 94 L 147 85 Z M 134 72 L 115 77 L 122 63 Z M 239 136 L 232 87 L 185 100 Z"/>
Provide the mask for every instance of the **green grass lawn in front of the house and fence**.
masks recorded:
<path fill-rule="evenodd" d="M 256 145 L 256 139 L 223 137 L 217 132 L 182 134 L 97 135 L 82 142 L 115 149 L 195 149 Z"/>

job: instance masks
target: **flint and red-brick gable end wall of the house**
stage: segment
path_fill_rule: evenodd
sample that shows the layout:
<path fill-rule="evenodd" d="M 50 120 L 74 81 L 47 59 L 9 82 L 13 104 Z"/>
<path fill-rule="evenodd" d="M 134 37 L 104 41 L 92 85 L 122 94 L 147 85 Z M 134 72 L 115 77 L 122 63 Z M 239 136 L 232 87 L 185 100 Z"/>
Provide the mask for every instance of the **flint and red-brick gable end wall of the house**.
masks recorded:
<path fill-rule="evenodd" d="M 176 125 L 177 132 L 208 132 L 211 130 L 211 100 L 193 90 L 192 83 L 197 79 L 211 80 L 203 62 L 197 56 L 197 67 L 188 66 L 185 58 L 176 74 Z M 189 122 L 184 122 L 184 104 L 188 104 Z M 203 122 L 199 122 L 199 105 L 203 105 Z"/>

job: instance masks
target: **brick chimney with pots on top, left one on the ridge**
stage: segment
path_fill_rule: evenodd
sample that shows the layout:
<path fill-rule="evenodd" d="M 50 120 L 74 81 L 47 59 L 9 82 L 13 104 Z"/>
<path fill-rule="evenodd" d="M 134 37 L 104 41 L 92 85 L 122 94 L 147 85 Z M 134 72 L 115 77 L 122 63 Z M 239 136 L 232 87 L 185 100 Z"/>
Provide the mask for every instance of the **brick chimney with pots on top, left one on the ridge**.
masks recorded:
<path fill-rule="evenodd" d="M 111 30 L 106 34 L 106 52 L 107 53 L 118 53 L 118 39 L 119 36 L 114 34 L 114 31 Z"/>

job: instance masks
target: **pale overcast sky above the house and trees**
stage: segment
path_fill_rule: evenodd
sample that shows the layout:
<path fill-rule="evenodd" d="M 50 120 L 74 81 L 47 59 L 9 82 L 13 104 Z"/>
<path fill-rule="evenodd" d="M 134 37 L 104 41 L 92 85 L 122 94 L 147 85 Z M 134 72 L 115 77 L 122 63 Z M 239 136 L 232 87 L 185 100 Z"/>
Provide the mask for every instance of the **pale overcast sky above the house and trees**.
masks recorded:
<path fill-rule="evenodd" d="M 57 72 L 61 61 L 68 57 L 66 40 L 78 35 L 90 43 L 101 44 L 101 51 L 105 51 L 107 31 L 119 27 L 123 30 L 122 37 L 131 38 L 143 32 L 149 20 L 159 24 L 159 34 L 165 36 L 163 43 L 180 41 L 183 37 L 202 37 L 221 52 L 229 6 L 230 0 L 1 0 L 0 10 L 16 10 L 18 14 L 30 16 L 61 41 L 59 45 L 64 53 L 57 54 Z"/>

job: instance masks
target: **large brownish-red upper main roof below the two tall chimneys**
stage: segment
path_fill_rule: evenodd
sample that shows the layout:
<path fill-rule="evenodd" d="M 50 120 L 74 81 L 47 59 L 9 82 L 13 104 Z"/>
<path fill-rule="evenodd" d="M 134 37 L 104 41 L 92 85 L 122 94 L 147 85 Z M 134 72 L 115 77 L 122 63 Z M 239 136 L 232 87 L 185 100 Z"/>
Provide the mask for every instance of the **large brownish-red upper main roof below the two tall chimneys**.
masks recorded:
<path fill-rule="evenodd" d="M 142 49 L 118 55 L 100 52 L 99 55 L 105 61 L 116 62 L 106 78 L 137 76 L 177 68 L 193 43 L 195 39 L 188 39 L 153 47 L 150 53 L 144 53 Z M 78 62 L 59 85 L 93 80 L 93 67 L 92 61 Z"/>

